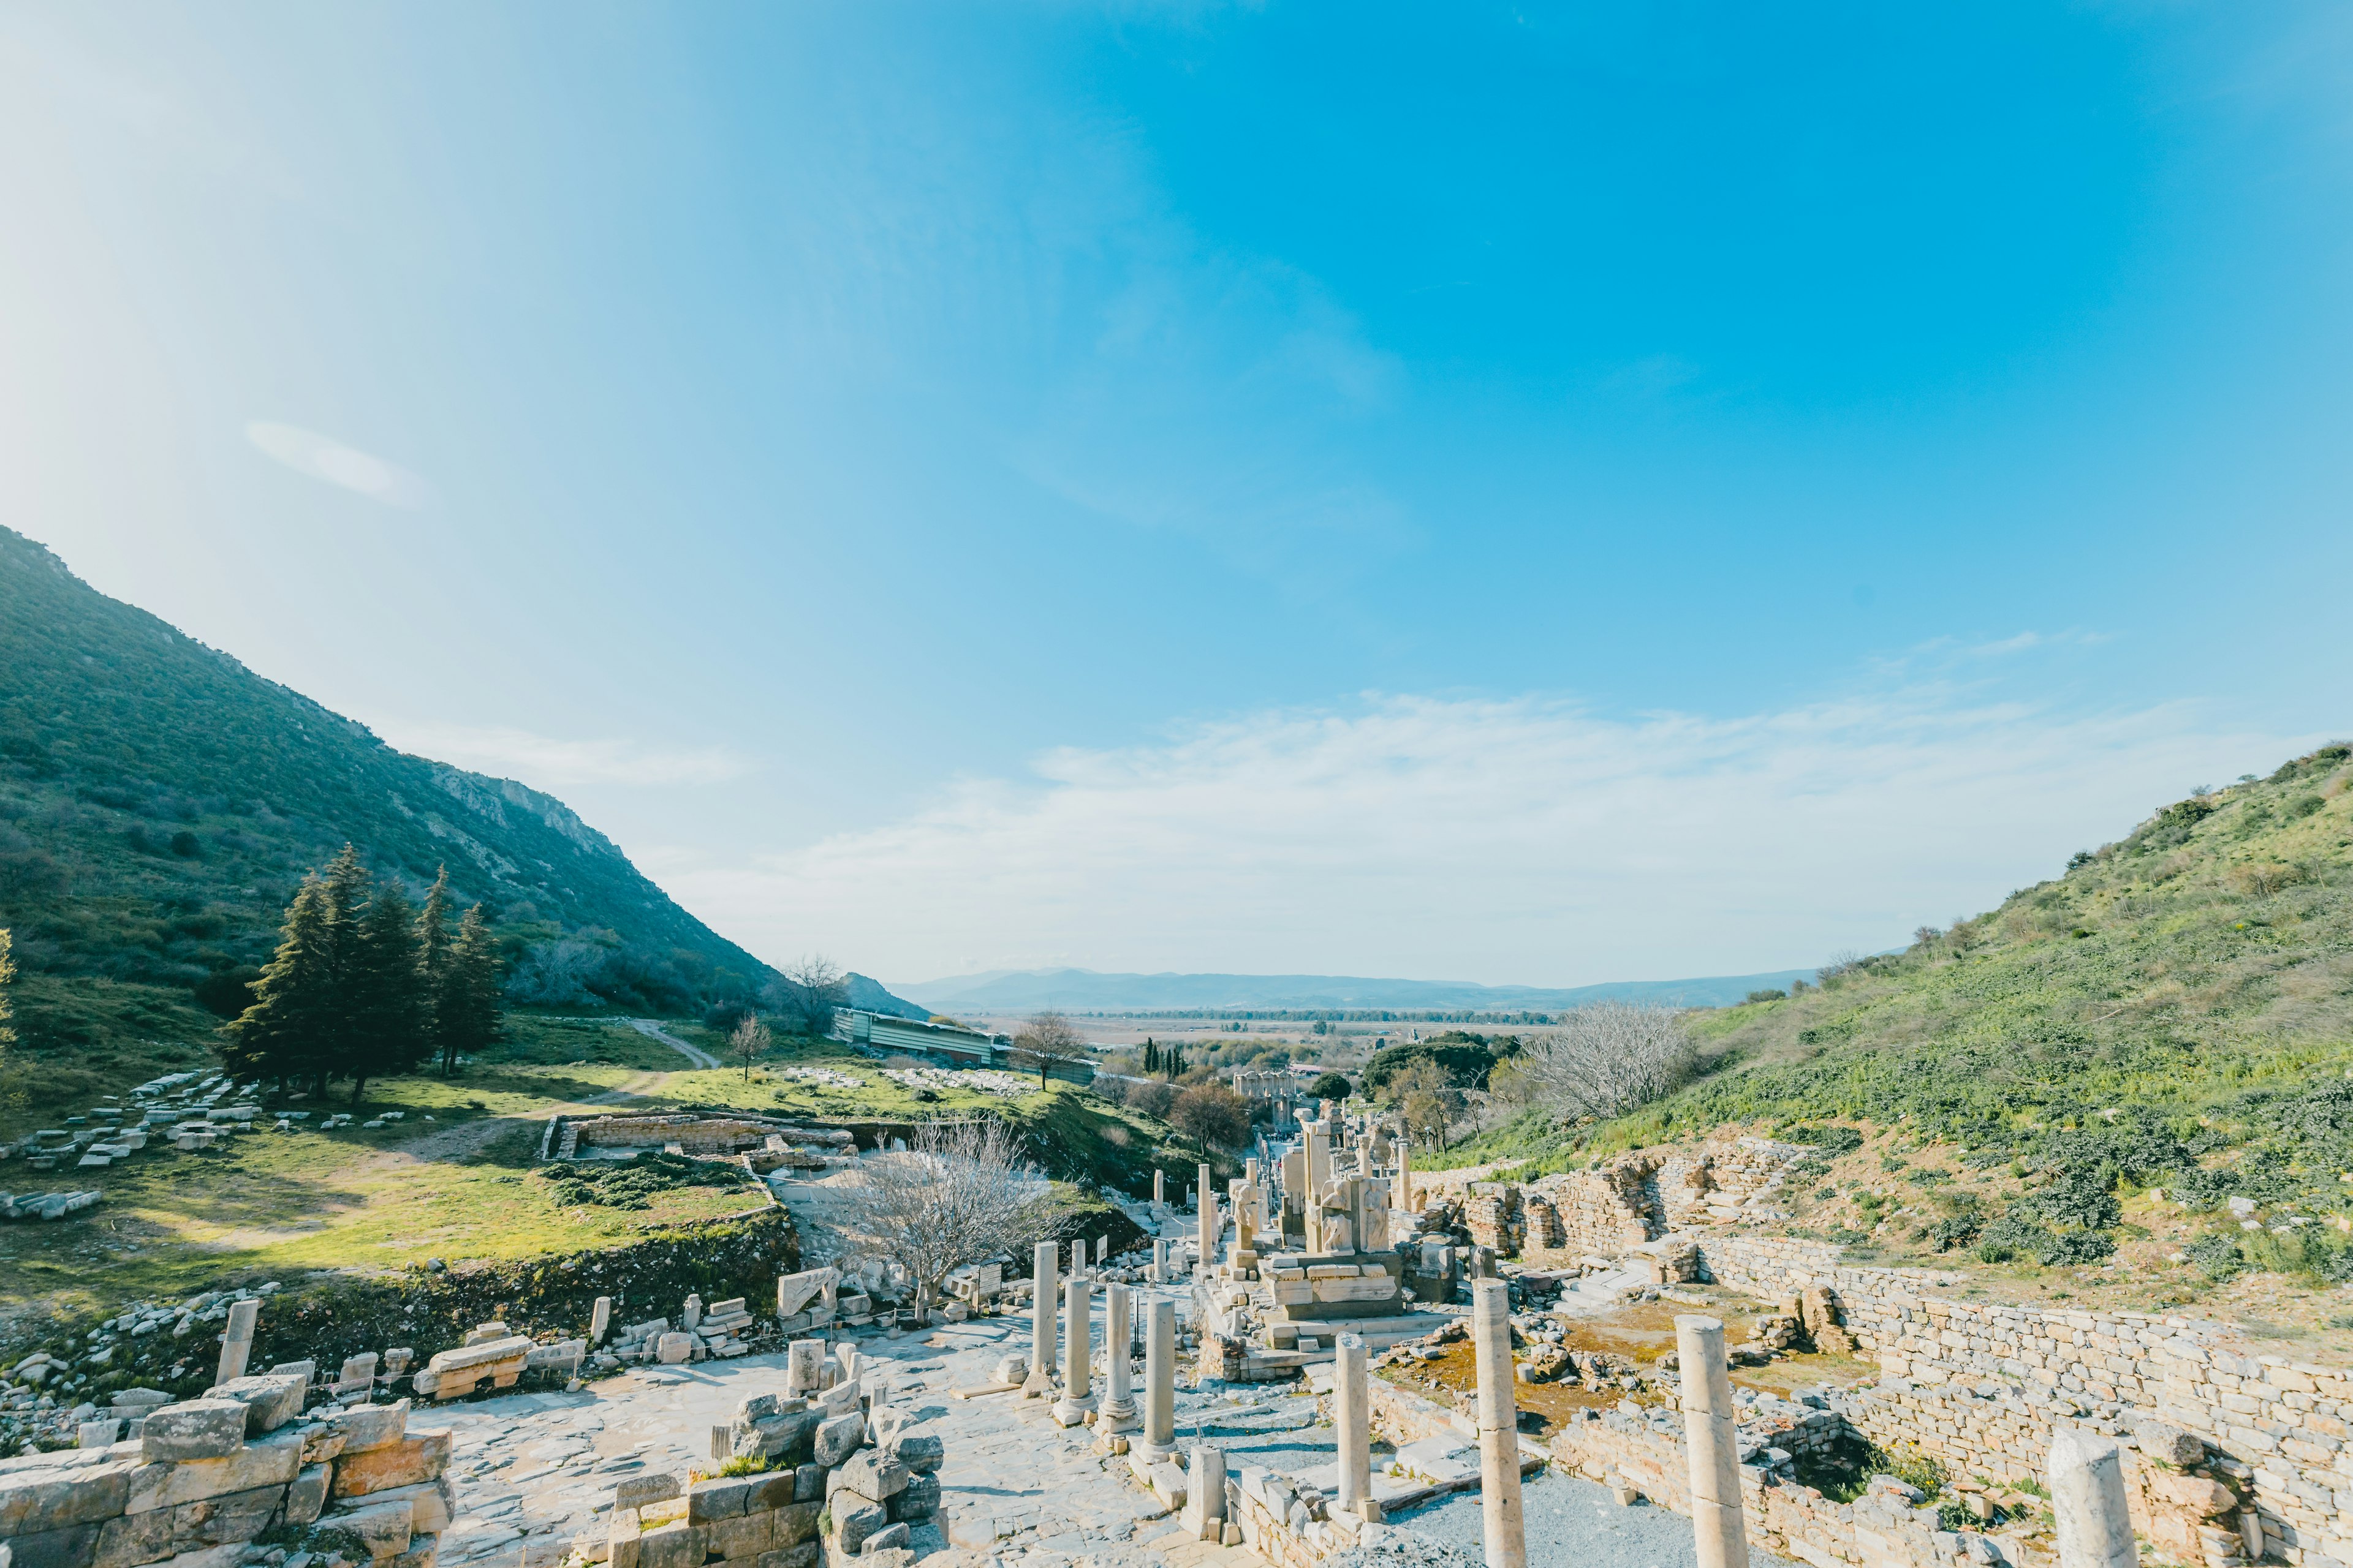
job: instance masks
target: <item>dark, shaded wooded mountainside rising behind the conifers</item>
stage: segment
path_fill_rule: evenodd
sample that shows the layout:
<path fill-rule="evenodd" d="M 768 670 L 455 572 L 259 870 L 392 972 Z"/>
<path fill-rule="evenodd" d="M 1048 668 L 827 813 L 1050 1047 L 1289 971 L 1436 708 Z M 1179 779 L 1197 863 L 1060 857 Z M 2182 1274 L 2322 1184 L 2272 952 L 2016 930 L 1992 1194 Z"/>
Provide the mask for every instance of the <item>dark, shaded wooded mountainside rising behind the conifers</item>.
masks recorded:
<path fill-rule="evenodd" d="M 87 994 L 45 978 L 233 1011 L 346 839 L 412 893 L 447 865 L 548 1004 L 680 1013 L 769 978 L 562 802 L 398 752 L 0 529 L 0 926 L 28 1046 Z"/>

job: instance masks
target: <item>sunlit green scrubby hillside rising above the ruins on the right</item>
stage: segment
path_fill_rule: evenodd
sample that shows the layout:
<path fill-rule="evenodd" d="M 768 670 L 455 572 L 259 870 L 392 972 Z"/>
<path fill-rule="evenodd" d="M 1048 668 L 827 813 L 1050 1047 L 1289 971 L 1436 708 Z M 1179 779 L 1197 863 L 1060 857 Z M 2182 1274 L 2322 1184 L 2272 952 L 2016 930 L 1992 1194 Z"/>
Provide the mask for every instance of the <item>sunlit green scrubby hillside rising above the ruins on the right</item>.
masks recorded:
<path fill-rule="evenodd" d="M 2049 1225 L 2162 1185 L 2193 1213 L 2247 1197 L 2353 1211 L 2353 764 L 2327 745 L 2271 778 L 2165 806 L 1901 954 L 1692 1016 L 1706 1072 L 1605 1126 L 1522 1117 L 1461 1159 L 1560 1161 L 1727 1121 L 1819 1138 L 1901 1126 L 2007 1166 Z M 2113 1225 L 2113 1220 L 2108 1220 Z M 2315 1225 L 2315 1244 L 2332 1241 Z M 2339 1239 L 2341 1241 L 2341 1239 Z M 2334 1258 L 2334 1253 L 2332 1253 Z M 2329 1262 L 2327 1267 L 2339 1267 Z"/>

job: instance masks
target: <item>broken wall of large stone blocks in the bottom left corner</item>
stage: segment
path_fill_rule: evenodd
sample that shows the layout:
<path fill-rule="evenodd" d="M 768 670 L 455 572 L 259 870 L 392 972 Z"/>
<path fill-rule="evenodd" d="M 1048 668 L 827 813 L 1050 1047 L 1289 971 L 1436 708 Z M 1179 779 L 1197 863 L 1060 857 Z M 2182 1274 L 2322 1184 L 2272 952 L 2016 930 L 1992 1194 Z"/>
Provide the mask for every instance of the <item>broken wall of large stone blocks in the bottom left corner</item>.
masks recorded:
<path fill-rule="evenodd" d="M 407 1401 L 301 1415 L 308 1368 L 235 1378 L 205 1399 L 136 1406 L 136 1434 L 0 1460 L 12 1568 L 228 1568 L 271 1528 L 339 1530 L 374 1568 L 433 1568 L 454 1493 L 447 1432 Z"/>

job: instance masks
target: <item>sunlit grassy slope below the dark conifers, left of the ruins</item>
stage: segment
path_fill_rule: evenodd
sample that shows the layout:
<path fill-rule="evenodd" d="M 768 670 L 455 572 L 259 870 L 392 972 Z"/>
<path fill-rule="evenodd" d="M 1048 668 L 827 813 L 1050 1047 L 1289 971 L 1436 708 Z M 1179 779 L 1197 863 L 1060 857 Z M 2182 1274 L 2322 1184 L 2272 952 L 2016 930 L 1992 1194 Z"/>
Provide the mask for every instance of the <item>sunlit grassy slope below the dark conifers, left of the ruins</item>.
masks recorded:
<path fill-rule="evenodd" d="M 167 987 L 45 985 L 68 987 L 80 1006 L 104 994 L 122 1016 L 195 1023 L 160 1011 L 181 994 Z M 120 1023 L 111 1018 L 108 1027 Z M 668 1027 L 708 1051 L 725 1044 L 694 1023 Z M 431 1258 L 511 1260 L 621 1246 L 758 1199 L 755 1192 L 687 1190 L 661 1194 L 645 1211 L 567 1208 L 534 1175 L 541 1128 L 560 1107 L 734 1105 L 840 1121 L 991 1110 L 1028 1131 L 1033 1157 L 1059 1180 L 1148 1194 L 1155 1159 L 1172 1185 L 1193 1171 L 1193 1154 L 1176 1145 L 1167 1124 L 1071 1084 L 1021 1100 L 955 1088 L 918 1100 L 885 1079 L 873 1058 L 835 1041 L 788 1039 L 746 1081 L 739 1070 L 687 1070 L 673 1048 L 619 1023 L 518 1013 L 511 1030 L 508 1046 L 452 1084 L 431 1077 L 372 1084 L 367 1114 L 407 1112 L 384 1131 L 249 1133 L 202 1154 L 151 1147 L 108 1171 L 40 1175 L 0 1164 L 0 1187 L 96 1185 L 106 1194 L 82 1222 L 0 1225 L 0 1319 L 35 1305 L 66 1316 L 113 1312 L 132 1298 L 191 1295 L 240 1279 L 292 1281 L 311 1269 L 381 1272 Z M 68 1084 L 75 1093 L 0 1114 L 0 1133 L 54 1126 L 59 1114 L 85 1110 L 99 1093 L 209 1060 L 200 1044 L 141 1046 L 129 1030 L 108 1039 L 113 1044 L 101 1051 L 108 1063 L 38 1079 Z M 784 1065 L 847 1072 L 861 1086 L 812 1086 L 781 1074 Z M 341 1098 L 301 1107 L 339 1110 Z"/>

